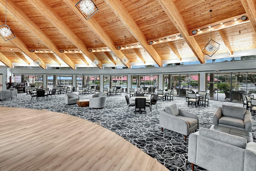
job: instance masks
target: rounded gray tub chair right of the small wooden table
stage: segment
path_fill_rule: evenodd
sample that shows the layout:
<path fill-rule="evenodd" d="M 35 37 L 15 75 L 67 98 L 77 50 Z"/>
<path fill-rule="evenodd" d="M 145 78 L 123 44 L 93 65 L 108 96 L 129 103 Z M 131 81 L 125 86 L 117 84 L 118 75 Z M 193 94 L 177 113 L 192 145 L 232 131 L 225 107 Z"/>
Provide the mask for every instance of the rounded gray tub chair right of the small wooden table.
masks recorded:
<path fill-rule="evenodd" d="M 92 95 L 92 98 L 90 99 L 90 102 L 89 102 L 89 107 L 100 109 L 105 107 L 105 105 L 106 105 L 106 93 L 99 92 Z"/>

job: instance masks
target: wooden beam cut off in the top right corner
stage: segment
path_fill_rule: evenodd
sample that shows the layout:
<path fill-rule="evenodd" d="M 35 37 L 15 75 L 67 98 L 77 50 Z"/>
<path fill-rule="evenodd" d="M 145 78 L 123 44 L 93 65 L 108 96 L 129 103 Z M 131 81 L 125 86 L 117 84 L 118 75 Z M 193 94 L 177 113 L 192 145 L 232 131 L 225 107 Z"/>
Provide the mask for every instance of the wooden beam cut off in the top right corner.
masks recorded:
<path fill-rule="evenodd" d="M 256 4 L 255 0 L 241 0 L 245 12 L 248 14 L 248 18 L 252 23 L 254 32 L 256 33 Z"/>

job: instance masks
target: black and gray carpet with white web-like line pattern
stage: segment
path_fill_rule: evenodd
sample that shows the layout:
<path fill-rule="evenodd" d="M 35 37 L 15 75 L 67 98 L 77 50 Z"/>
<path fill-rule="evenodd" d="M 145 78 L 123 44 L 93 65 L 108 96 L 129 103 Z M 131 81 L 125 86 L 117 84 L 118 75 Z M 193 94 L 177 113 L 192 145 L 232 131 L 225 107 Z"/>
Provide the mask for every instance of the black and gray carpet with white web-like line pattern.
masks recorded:
<path fill-rule="evenodd" d="M 106 107 L 104 109 L 91 109 L 89 107 L 78 107 L 77 104 L 66 105 L 64 103 L 64 95 L 53 96 L 51 100 L 30 101 L 30 95 L 26 93 L 18 94 L 13 99 L 0 101 L 0 106 L 22 107 L 30 109 L 41 109 L 66 113 L 94 123 L 115 132 L 122 136 L 130 143 L 142 149 L 151 157 L 157 159 L 165 167 L 171 171 L 189 171 L 191 165 L 187 161 L 188 158 L 188 139 L 184 141 L 184 136 L 173 131 L 164 129 L 161 132 L 159 127 L 159 109 L 166 105 L 176 103 L 180 109 L 196 113 L 200 119 L 200 127 L 210 128 L 212 125 L 212 115 L 222 104 L 240 106 L 241 103 L 230 103 L 226 101 L 210 100 L 209 107 L 187 106 L 184 97 L 174 97 L 174 101 L 158 101 L 157 108 L 153 105 L 152 114 L 147 109 L 146 116 L 144 114 L 133 113 L 134 108 L 126 113 L 127 104 L 123 93 L 118 96 L 107 97 Z M 91 95 L 80 95 L 80 99 L 91 98 Z M 252 133 L 254 142 L 256 142 L 256 122 L 255 116 L 252 116 Z M 204 170 L 196 167 L 195 170 Z"/>

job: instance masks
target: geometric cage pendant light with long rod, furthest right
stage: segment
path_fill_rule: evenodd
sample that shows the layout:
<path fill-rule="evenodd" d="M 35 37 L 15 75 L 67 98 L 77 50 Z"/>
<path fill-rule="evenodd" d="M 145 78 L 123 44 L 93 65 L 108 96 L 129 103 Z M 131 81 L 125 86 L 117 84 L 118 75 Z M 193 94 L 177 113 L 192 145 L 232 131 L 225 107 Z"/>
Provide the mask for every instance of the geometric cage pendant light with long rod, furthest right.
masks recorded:
<path fill-rule="evenodd" d="M 212 10 L 210 10 L 210 26 L 212 26 Z M 212 57 L 212 55 L 220 48 L 220 44 L 212 40 L 212 27 L 210 27 L 210 29 L 210 40 L 206 46 L 204 46 L 202 52 L 207 56 Z"/>

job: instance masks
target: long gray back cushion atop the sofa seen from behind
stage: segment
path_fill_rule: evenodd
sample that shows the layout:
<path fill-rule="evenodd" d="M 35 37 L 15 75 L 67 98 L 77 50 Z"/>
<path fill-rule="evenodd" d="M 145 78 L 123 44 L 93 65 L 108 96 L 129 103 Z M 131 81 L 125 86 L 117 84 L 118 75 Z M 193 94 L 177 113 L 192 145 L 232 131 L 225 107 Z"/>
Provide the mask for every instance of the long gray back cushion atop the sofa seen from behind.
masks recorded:
<path fill-rule="evenodd" d="M 215 139 L 217 141 L 221 141 L 223 143 L 234 145 L 236 147 L 240 147 L 243 149 L 246 148 L 247 140 L 245 138 L 238 137 L 236 135 L 230 135 L 228 133 L 214 131 L 204 127 L 200 127 L 199 134 L 211 139 Z"/>

